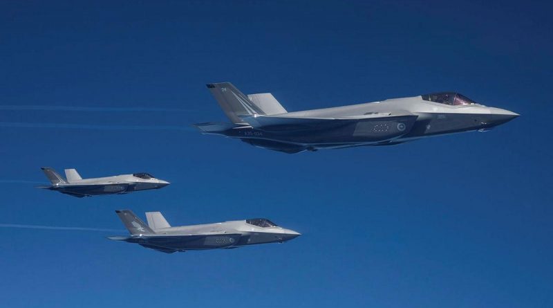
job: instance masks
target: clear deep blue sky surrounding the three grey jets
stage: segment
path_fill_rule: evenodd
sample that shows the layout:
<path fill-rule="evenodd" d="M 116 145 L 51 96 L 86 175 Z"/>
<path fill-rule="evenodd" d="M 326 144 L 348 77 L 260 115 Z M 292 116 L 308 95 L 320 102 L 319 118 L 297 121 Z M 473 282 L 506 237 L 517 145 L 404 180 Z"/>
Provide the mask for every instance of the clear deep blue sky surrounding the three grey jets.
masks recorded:
<path fill-rule="evenodd" d="M 553 307 L 553 8 L 537 2 L 2 1 L 0 306 Z M 189 126 L 226 120 L 205 88 L 222 81 L 289 111 L 459 91 L 521 117 L 289 155 Z M 77 199 L 34 188 L 46 165 L 172 184 Z M 166 255 L 105 239 L 126 234 L 120 208 L 303 235 Z"/>

